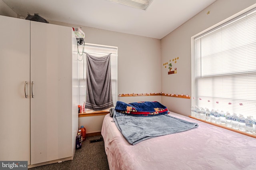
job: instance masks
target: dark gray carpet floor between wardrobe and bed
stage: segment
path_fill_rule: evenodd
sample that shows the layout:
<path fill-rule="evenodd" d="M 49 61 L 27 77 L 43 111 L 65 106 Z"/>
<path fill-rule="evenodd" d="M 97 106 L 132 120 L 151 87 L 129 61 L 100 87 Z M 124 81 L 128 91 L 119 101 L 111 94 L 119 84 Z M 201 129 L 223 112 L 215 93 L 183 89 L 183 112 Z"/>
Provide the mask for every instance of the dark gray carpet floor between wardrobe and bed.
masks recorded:
<path fill-rule="evenodd" d="M 102 136 L 86 137 L 82 148 L 76 150 L 73 160 L 30 168 L 29 170 L 109 170 Z"/>

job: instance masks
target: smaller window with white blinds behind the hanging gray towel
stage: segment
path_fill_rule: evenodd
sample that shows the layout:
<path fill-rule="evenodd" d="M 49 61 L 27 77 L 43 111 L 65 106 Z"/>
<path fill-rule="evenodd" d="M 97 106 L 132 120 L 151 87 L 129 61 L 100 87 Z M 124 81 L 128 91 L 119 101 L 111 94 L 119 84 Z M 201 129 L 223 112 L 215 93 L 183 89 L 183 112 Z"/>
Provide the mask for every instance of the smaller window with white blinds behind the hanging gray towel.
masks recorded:
<path fill-rule="evenodd" d="M 117 91 L 117 57 L 118 57 L 118 48 L 106 45 L 97 45 L 85 43 L 84 45 L 78 46 L 79 57 L 78 57 L 78 81 L 79 81 L 79 105 L 83 105 L 86 100 L 86 59 L 85 53 L 82 51 L 94 55 L 95 57 L 102 57 L 112 53 L 110 56 L 111 59 L 111 83 L 112 83 L 112 97 L 114 106 L 118 99 Z"/>

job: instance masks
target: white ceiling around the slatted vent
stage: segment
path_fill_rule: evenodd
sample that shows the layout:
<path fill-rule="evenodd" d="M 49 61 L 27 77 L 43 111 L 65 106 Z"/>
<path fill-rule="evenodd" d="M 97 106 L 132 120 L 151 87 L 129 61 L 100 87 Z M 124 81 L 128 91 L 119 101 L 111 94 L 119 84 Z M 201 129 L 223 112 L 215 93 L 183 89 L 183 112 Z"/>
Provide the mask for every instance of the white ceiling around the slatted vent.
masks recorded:
<path fill-rule="evenodd" d="M 153 0 L 146 11 L 108 0 L 3 1 L 22 16 L 162 39 L 215 0 Z"/>

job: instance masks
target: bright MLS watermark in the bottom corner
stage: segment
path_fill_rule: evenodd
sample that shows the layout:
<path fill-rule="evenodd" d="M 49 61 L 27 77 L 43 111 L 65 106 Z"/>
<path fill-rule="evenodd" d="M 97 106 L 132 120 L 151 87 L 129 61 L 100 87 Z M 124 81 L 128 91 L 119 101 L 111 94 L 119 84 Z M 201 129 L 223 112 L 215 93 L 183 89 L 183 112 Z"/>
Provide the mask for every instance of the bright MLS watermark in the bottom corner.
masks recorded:
<path fill-rule="evenodd" d="M 0 170 L 27 170 L 28 161 L 0 161 Z"/>

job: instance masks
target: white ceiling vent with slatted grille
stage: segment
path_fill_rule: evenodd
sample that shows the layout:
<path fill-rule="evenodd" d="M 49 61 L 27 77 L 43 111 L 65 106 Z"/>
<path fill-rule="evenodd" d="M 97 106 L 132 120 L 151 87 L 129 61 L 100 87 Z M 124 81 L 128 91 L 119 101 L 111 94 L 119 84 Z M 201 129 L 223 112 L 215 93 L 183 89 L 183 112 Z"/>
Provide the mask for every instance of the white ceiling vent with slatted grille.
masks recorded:
<path fill-rule="evenodd" d="M 109 0 L 109 1 L 117 2 L 117 3 L 120 3 L 120 4 L 124 4 L 124 5 L 127 5 L 127 6 L 131 6 L 131 7 L 138 8 L 138 9 L 146 11 L 148 6 L 150 5 L 150 3 L 153 0 Z"/>

